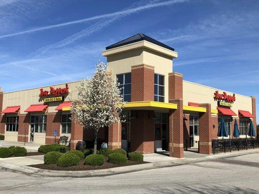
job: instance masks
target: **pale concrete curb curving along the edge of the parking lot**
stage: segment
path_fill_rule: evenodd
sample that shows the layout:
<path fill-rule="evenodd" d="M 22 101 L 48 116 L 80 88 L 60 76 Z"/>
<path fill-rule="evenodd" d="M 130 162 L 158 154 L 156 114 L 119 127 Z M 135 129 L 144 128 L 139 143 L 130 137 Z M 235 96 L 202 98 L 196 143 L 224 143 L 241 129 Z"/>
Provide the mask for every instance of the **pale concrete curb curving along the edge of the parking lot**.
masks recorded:
<path fill-rule="evenodd" d="M 142 170 L 149 170 L 155 168 L 163 168 L 170 166 L 178 166 L 184 164 L 191 164 L 196 162 L 205 162 L 213 159 L 224 159 L 236 156 L 242 156 L 247 154 L 259 153 L 259 149 L 255 149 L 253 151 L 239 151 L 232 153 L 221 153 L 217 155 L 208 155 L 202 158 L 190 158 L 190 159 L 178 159 L 173 161 L 165 161 L 165 162 L 154 162 L 154 163 L 145 163 L 145 164 L 137 164 L 131 166 L 121 166 L 115 168 L 108 169 L 98 169 L 98 170 L 85 170 L 85 171 L 58 171 L 58 170 L 45 170 L 34 168 L 30 166 L 17 166 L 13 164 L 0 162 L 0 168 L 4 170 L 9 170 L 17 173 L 24 173 L 27 175 L 39 175 L 39 176 L 47 176 L 47 177 L 74 177 L 74 178 L 84 178 L 84 177 L 104 177 L 109 175 L 116 175 L 122 173 L 130 173 Z"/>

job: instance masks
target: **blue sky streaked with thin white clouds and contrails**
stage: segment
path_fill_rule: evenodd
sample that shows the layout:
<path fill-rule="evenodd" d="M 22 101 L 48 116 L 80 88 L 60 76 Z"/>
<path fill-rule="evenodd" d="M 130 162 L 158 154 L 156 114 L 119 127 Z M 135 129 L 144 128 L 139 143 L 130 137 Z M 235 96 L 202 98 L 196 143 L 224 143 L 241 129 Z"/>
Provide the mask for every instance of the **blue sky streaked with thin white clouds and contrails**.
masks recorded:
<path fill-rule="evenodd" d="M 258 10 L 258 0 L 0 0 L 0 86 L 89 77 L 106 46 L 143 32 L 178 52 L 184 80 L 256 96 L 259 113 Z"/>

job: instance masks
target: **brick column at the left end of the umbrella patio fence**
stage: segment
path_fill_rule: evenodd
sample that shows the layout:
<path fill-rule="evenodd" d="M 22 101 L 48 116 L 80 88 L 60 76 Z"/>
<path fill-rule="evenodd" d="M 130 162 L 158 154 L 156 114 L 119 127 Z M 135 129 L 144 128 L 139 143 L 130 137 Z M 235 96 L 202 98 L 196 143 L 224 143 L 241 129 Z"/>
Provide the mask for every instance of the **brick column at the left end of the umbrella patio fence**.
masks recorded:
<path fill-rule="evenodd" d="M 199 106 L 205 107 L 207 109 L 206 113 L 199 113 L 200 153 L 211 154 L 211 139 L 213 129 L 211 118 L 211 104 L 199 104 Z"/>

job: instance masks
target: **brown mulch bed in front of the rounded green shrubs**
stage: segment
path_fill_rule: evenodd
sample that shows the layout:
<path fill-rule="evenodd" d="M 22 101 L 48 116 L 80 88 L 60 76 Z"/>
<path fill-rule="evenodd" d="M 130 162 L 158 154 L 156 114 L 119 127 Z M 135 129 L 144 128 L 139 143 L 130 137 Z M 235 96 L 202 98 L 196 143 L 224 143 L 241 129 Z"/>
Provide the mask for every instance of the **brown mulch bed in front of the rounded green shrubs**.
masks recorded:
<path fill-rule="evenodd" d="M 149 163 L 149 162 L 128 161 L 126 164 L 113 164 L 113 163 L 107 162 L 107 159 L 106 159 L 104 164 L 101 165 L 101 166 L 85 165 L 85 160 L 82 160 L 79 163 L 79 165 L 69 166 L 69 167 L 61 167 L 61 166 L 58 166 L 57 164 L 33 164 L 33 165 L 30 165 L 30 166 L 31 167 L 35 167 L 35 168 L 45 169 L 45 170 L 71 170 L 71 171 L 77 171 L 77 170 L 107 169 L 107 168 L 114 168 L 114 167 L 120 167 L 120 166 L 130 166 L 130 165 L 143 164 L 143 163 Z"/>

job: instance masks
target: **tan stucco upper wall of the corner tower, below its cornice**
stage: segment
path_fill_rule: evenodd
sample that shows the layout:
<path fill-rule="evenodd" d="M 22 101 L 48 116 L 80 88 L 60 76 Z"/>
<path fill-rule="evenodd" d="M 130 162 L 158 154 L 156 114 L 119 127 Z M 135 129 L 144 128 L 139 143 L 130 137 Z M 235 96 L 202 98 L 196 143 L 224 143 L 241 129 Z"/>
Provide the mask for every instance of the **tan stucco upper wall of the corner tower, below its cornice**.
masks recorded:
<path fill-rule="evenodd" d="M 107 70 L 116 75 L 131 72 L 133 65 L 154 66 L 155 73 L 165 76 L 165 102 L 168 102 L 168 73 L 173 72 L 173 57 L 149 48 L 131 49 L 107 56 Z"/>

